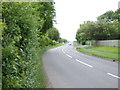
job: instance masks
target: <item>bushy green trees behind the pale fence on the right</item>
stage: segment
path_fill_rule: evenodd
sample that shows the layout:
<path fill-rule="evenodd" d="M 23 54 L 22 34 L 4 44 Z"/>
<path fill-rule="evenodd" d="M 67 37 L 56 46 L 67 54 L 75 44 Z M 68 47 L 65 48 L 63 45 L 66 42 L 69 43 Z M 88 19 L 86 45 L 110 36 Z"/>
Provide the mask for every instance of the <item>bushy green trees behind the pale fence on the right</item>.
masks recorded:
<path fill-rule="evenodd" d="M 80 24 L 77 30 L 77 42 L 85 42 L 87 40 L 114 40 L 120 39 L 120 9 L 116 11 L 107 11 L 103 15 L 97 17 L 97 21 L 86 21 Z"/>

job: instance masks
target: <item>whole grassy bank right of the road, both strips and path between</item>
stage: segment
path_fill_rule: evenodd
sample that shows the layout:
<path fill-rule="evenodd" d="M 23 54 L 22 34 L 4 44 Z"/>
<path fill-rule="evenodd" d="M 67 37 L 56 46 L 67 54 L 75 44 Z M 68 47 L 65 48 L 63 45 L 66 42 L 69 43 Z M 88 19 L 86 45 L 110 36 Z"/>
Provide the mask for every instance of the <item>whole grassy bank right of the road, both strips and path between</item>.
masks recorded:
<path fill-rule="evenodd" d="M 89 46 L 89 45 L 80 45 L 78 42 L 74 42 L 73 45 L 75 47 L 77 46 Z M 118 54 L 120 54 L 119 49 L 120 47 L 112 47 L 112 46 L 89 46 L 88 49 L 86 48 L 76 48 L 77 51 L 87 53 L 90 55 L 102 57 L 102 58 L 108 58 L 108 59 L 114 59 L 114 60 L 120 60 L 118 57 Z"/>

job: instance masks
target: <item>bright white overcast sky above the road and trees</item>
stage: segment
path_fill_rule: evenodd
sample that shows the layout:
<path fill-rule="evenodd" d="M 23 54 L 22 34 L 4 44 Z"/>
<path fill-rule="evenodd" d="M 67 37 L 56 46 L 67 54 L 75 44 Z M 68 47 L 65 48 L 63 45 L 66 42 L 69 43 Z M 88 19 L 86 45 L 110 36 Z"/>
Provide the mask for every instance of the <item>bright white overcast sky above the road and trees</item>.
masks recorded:
<path fill-rule="evenodd" d="M 76 31 L 84 21 L 96 21 L 96 17 L 109 10 L 117 10 L 119 0 L 54 0 L 60 36 L 75 40 Z"/>

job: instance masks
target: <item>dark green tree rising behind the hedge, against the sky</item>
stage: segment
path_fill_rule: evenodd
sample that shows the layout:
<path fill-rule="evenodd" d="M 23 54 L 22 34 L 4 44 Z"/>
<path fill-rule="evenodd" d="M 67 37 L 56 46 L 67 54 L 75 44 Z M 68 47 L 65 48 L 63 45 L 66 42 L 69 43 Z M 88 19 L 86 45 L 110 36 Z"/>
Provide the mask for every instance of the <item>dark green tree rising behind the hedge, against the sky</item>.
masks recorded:
<path fill-rule="evenodd" d="M 55 17 L 55 9 L 54 9 L 54 2 L 42 2 L 43 8 L 40 8 L 39 11 L 42 11 L 40 14 L 43 17 L 44 23 L 40 30 L 42 33 L 46 33 L 48 29 L 53 27 L 53 19 Z"/>

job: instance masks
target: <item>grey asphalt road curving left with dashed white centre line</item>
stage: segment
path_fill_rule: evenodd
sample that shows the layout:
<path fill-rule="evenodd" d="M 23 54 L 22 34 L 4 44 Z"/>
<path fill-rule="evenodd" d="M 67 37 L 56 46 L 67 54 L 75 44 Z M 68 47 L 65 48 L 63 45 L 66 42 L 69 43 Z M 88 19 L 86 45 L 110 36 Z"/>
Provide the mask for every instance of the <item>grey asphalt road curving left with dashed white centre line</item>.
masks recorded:
<path fill-rule="evenodd" d="M 72 45 L 45 52 L 43 66 L 53 88 L 118 88 L 118 62 L 78 52 Z"/>

